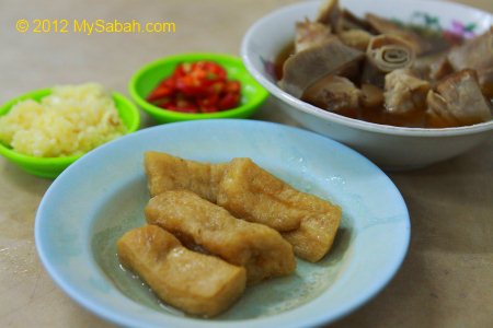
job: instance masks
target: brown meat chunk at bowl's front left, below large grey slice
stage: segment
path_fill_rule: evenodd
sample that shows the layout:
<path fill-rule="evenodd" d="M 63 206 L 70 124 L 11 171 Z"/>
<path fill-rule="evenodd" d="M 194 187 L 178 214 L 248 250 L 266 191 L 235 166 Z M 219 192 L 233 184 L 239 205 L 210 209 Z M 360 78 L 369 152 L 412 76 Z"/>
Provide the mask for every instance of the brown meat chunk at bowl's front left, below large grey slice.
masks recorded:
<path fill-rule="evenodd" d="M 360 91 L 346 78 L 326 75 L 308 87 L 301 99 L 330 112 L 357 110 Z"/>

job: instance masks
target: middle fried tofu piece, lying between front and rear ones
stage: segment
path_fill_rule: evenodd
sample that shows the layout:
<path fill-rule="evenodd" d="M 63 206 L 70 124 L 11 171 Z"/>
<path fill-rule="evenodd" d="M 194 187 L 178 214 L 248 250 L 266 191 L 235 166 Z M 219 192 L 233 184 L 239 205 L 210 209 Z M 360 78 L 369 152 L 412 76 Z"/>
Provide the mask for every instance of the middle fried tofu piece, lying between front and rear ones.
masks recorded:
<path fill-rule="evenodd" d="M 248 283 L 286 276 L 296 268 L 293 247 L 277 231 L 236 219 L 194 192 L 162 192 L 149 201 L 145 213 L 148 223 L 173 233 L 188 248 L 199 246 L 245 267 Z"/>

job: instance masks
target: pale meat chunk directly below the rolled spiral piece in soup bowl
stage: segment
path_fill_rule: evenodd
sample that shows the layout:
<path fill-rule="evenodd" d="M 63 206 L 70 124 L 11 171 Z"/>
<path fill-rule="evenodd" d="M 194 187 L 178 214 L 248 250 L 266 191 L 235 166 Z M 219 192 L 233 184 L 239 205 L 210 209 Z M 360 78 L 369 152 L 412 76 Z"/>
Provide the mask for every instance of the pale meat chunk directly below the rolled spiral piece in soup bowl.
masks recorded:
<path fill-rule="evenodd" d="M 419 79 L 410 69 L 399 69 L 386 75 L 385 103 L 391 115 L 408 115 L 426 110 L 429 82 Z"/>

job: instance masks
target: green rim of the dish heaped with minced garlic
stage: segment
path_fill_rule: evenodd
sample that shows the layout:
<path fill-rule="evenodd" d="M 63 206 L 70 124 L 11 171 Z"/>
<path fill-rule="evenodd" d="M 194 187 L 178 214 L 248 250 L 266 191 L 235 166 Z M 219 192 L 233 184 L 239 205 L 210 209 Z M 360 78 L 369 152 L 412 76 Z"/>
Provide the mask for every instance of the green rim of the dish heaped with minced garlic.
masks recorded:
<path fill-rule="evenodd" d="M 19 96 L 15 96 L 9 101 L 7 101 L 3 105 L 0 106 L 0 117 L 3 115 L 7 115 L 11 108 L 19 102 L 26 101 L 26 99 L 33 99 L 35 97 L 44 97 L 51 93 L 53 87 L 44 87 L 44 89 L 36 89 L 26 93 L 23 93 Z M 126 96 L 123 94 L 112 91 L 111 92 L 113 101 L 117 101 L 119 103 L 124 104 L 124 107 L 131 113 L 131 124 L 129 126 L 126 126 L 126 132 L 125 134 L 135 132 L 140 127 L 140 115 L 138 112 L 138 108 L 135 106 L 134 103 L 130 102 Z M 115 107 L 117 107 L 115 102 Z M 119 114 L 118 114 L 119 116 Z M 122 136 L 123 137 L 123 136 Z M 66 165 L 74 162 L 76 160 L 83 156 L 85 153 L 79 154 L 79 155 L 70 155 L 70 156 L 57 156 L 57 157 L 37 157 L 32 155 L 26 155 L 20 152 L 14 151 L 12 148 L 9 148 L 0 142 L 0 154 L 5 156 L 7 159 L 10 159 L 11 161 L 28 164 L 28 165 Z"/>

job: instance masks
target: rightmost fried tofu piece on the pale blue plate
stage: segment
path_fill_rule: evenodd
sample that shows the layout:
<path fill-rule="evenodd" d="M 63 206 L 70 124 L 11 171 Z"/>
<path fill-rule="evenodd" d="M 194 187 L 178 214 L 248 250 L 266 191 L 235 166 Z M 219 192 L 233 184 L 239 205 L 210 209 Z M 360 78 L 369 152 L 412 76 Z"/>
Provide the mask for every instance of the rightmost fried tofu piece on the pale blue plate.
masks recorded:
<path fill-rule="evenodd" d="M 297 256 L 311 262 L 330 250 L 341 221 L 341 208 L 296 190 L 250 159 L 229 163 L 217 202 L 234 216 L 276 229 Z M 288 226 L 295 229 L 286 232 Z"/>

